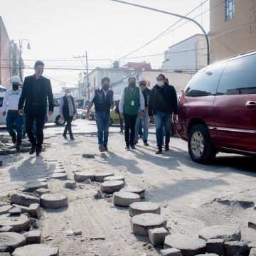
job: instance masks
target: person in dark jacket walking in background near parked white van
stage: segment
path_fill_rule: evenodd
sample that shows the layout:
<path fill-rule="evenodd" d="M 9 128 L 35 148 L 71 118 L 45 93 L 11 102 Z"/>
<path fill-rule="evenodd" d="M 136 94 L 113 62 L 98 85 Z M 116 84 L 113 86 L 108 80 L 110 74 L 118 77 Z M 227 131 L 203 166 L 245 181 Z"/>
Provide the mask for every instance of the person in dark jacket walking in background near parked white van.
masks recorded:
<path fill-rule="evenodd" d="M 71 96 L 70 89 L 65 90 L 65 96 L 60 99 L 60 117 L 65 119 L 66 126 L 63 132 L 63 137 L 68 139 L 67 132 L 70 135 L 71 140 L 75 140 L 71 129 L 71 122 L 73 121 L 74 115 L 77 113 L 75 108 L 74 98 Z"/>

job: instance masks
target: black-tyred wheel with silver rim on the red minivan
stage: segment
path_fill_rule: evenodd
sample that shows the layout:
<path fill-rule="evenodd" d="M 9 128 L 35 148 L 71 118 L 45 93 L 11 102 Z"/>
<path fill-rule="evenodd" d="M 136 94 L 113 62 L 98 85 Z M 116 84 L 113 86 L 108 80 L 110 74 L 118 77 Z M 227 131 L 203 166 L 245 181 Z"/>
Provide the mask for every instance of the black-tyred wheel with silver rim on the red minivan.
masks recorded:
<path fill-rule="evenodd" d="M 205 164 L 215 158 L 216 151 L 205 125 L 197 124 L 191 128 L 188 136 L 188 152 L 191 159 L 200 164 Z"/>

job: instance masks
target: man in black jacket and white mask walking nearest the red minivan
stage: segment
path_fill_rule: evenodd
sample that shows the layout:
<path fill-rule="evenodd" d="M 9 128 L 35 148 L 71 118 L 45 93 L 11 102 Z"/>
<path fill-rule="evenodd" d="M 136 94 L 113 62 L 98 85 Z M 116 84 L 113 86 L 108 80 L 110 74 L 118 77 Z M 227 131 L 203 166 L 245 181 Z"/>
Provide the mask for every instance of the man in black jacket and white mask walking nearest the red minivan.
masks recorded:
<path fill-rule="evenodd" d="M 149 96 L 149 118 L 151 121 L 154 119 L 156 125 L 156 154 L 162 154 L 163 127 L 166 135 L 165 151 L 169 151 L 171 115 L 174 113 L 173 119 L 176 120 L 178 113 L 176 90 L 172 85 L 168 85 L 165 79 L 162 74 L 156 78 L 156 85 Z"/>

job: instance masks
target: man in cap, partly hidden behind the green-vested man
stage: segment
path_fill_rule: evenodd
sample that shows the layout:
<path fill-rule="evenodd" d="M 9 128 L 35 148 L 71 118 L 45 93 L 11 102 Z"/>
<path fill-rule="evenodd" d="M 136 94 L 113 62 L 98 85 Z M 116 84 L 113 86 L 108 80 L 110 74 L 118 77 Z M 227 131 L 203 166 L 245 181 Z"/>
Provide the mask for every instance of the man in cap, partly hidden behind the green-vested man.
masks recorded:
<path fill-rule="evenodd" d="M 145 101 L 145 110 L 144 113 L 142 114 L 142 117 L 138 115 L 137 117 L 137 123 L 135 127 L 135 139 L 134 139 L 134 144 L 137 144 L 139 141 L 139 124 L 143 122 L 143 143 L 144 146 L 149 146 L 149 143 L 147 141 L 148 135 L 149 135 L 149 95 L 151 90 L 149 90 L 148 87 L 146 87 L 146 80 L 144 78 L 141 78 L 139 80 L 139 87 L 142 90 L 142 94 L 144 96 L 144 101 Z"/>

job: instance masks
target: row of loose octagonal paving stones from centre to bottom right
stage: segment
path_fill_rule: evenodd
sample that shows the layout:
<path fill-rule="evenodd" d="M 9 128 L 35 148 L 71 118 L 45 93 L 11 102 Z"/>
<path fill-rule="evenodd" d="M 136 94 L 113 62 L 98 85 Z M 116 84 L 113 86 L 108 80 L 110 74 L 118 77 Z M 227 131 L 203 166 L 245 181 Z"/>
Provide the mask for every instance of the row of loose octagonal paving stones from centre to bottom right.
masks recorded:
<path fill-rule="evenodd" d="M 144 188 L 127 186 L 123 176 L 77 171 L 74 178 L 75 181 L 83 183 L 100 182 L 100 191 L 95 192 L 95 198 L 112 197 L 114 205 L 129 207 L 132 233 L 149 237 L 154 247 L 164 247 L 161 255 L 256 256 L 256 248 L 241 241 L 239 228 L 215 225 L 204 228 L 196 236 L 171 234 L 166 229 L 167 220 L 161 215 L 161 206 L 141 201 L 145 197 Z M 248 227 L 256 230 L 256 206 L 254 209 L 255 214 L 250 218 Z"/>

